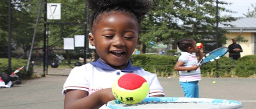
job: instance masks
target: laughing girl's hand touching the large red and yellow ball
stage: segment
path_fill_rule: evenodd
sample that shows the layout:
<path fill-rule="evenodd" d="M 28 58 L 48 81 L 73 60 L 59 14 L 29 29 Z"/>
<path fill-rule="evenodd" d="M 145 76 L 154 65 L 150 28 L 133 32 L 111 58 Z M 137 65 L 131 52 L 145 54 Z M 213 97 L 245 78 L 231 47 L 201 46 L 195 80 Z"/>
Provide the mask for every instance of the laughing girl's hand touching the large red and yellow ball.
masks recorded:
<path fill-rule="evenodd" d="M 111 100 L 116 100 L 112 93 L 112 88 L 98 90 L 100 94 L 100 100 L 103 104 L 107 104 Z M 97 91 L 97 92 L 98 92 Z"/>

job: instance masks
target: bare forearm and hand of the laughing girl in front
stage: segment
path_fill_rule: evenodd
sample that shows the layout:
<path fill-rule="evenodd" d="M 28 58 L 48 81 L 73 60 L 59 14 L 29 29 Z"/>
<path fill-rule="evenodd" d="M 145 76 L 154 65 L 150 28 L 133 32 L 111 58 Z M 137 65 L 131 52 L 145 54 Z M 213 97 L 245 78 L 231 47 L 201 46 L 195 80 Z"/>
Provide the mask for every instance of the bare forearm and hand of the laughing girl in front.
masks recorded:
<path fill-rule="evenodd" d="M 65 109 L 98 109 L 108 101 L 115 100 L 112 88 L 101 89 L 90 96 L 83 90 L 67 90 L 64 100 Z"/>

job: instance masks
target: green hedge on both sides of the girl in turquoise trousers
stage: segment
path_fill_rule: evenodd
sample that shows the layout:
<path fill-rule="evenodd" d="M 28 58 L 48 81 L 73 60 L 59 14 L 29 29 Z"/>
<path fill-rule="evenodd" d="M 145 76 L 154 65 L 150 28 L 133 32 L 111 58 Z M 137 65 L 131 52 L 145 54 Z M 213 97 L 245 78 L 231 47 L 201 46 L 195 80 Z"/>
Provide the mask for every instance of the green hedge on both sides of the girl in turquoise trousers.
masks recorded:
<path fill-rule="evenodd" d="M 159 77 L 178 77 L 174 70 L 178 57 L 167 55 L 132 55 L 132 65 L 141 66 L 148 72 L 156 73 Z M 221 57 L 216 61 L 200 66 L 202 77 L 256 77 L 256 55 L 249 55 L 233 61 L 229 57 Z"/>

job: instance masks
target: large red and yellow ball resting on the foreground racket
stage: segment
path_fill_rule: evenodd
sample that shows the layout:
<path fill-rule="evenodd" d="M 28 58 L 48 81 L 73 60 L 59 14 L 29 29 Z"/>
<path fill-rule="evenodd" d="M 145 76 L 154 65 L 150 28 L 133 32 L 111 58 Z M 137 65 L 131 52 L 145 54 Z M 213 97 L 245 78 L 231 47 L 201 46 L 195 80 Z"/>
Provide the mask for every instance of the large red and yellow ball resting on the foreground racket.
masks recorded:
<path fill-rule="evenodd" d="M 133 73 L 124 74 L 112 86 L 112 93 L 116 99 L 125 104 L 136 104 L 148 95 L 148 82 Z"/>

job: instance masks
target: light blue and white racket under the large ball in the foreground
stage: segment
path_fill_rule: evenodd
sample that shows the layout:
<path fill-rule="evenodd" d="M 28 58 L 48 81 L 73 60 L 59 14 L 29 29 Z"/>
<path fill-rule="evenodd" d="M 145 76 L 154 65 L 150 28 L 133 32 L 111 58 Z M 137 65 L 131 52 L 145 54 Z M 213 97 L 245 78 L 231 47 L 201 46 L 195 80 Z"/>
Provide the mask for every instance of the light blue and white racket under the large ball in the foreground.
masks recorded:
<path fill-rule="evenodd" d="M 240 109 L 242 103 L 233 100 L 184 97 L 146 97 L 137 104 L 109 101 L 108 109 Z"/>

